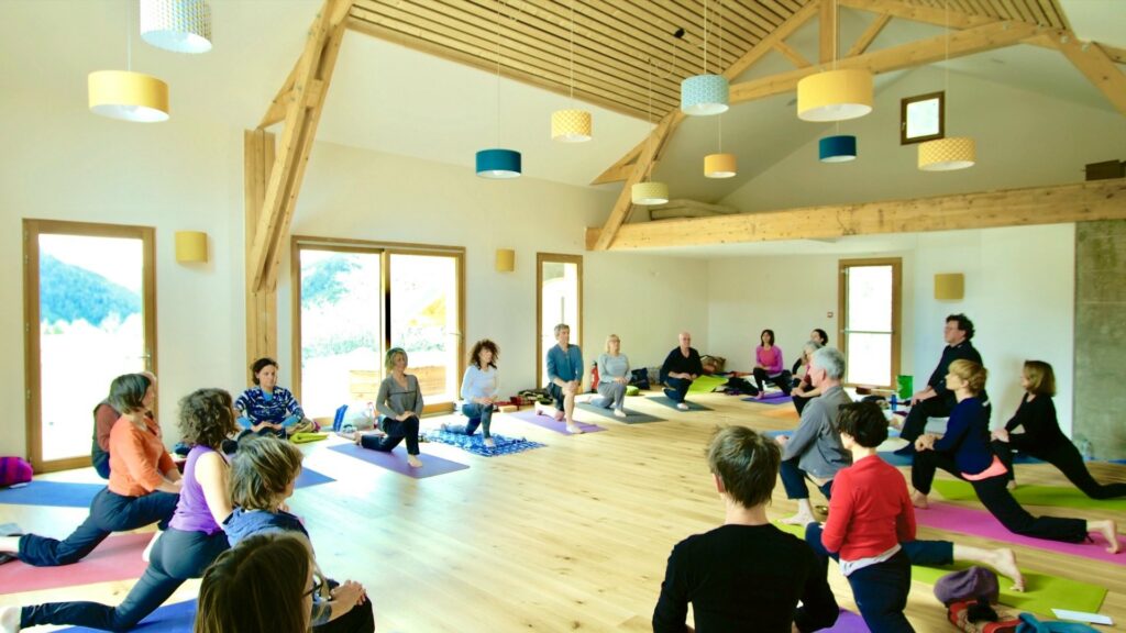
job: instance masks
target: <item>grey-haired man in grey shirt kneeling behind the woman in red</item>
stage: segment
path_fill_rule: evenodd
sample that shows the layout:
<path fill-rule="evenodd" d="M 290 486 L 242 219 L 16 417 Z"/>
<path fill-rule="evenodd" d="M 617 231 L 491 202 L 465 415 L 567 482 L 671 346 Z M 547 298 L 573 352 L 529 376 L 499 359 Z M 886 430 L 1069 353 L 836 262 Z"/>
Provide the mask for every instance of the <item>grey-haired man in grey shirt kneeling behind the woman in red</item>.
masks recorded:
<path fill-rule="evenodd" d="M 849 399 L 841 389 L 844 377 L 844 355 L 833 347 L 815 351 L 810 360 L 810 380 L 821 391 L 802 411 L 802 422 L 792 436 L 778 436 L 781 445 L 781 476 L 786 498 L 797 501 L 797 514 L 783 523 L 805 525 L 817 520 L 810 505 L 810 489 L 806 478 L 817 484 L 828 499 L 832 492 L 837 471 L 852 464 L 852 455 L 841 446 L 837 418 L 840 405 Z"/>

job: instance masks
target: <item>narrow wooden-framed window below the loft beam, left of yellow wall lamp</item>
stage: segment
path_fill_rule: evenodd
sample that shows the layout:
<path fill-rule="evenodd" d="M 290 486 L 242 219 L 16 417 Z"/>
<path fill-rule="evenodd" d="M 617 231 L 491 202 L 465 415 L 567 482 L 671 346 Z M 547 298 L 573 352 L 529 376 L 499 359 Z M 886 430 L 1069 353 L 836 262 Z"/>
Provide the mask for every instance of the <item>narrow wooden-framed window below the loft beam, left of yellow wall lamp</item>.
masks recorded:
<path fill-rule="evenodd" d="M 847 384 L 891 387 L 900 373 L 902 260 L 840 260 L 840 330 Z"/>

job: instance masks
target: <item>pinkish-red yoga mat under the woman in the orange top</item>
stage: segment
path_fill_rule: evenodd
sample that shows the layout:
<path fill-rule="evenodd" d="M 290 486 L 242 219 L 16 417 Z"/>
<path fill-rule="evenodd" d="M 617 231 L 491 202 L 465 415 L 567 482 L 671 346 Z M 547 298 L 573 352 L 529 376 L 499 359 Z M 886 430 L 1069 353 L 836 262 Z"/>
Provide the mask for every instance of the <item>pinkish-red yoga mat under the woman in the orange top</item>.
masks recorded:
<path fill-rule="evenodd" d="M 63 567 L 32 567 L 20 561 L 0 565 L 0 594 L 35 591 L 141 578 L 149 563 L 141 560 L 152 533 L 119 534 L 102 541 L 90 555 Z"/>

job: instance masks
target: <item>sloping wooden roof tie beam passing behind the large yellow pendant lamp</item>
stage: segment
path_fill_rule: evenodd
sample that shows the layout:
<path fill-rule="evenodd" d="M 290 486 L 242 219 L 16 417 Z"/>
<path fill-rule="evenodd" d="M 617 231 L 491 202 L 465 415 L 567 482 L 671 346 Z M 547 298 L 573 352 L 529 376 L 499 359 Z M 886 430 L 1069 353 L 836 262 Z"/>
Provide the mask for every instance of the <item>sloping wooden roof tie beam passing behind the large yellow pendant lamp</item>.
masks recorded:
<path fill-rule="evenodd" d="M 856 57 L 846 57 L 837 62 L 837 68 L 866 69 L 873 74 L 881 74 L 938 62 L 947 55 L 953 59 L 1011 46 L 1039 32 L 1040 27 L 1027 23 L 993 23 L 951 33 L 949 36 L 939 35 L 911 44 L 865 53 Z M 949 46 L 948 52 L 947 46 Z M 798 69 L 734 83 L 731 86 L 731 102 L 733 105 L 741 104 L 795 90 L 798 81 L 814 72 L 819 72 L 819 69 Z"/>

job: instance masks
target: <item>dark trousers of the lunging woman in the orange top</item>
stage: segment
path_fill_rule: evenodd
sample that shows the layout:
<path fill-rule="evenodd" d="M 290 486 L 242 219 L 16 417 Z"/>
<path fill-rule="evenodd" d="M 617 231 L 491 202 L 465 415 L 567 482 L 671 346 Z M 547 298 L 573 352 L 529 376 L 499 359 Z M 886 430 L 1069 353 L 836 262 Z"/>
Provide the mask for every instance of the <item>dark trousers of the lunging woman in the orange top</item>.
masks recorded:
<path fill-rule="evenodd" d="M 114 532 L 136 529 L 154 523 L 168 528 L 179 494 L 150 492 L 125 497 L 104 488 L 90 503 L 90 516 L 64 541 L 27 534 L 19 538 L 19 560 L 35 567 L 56 567 L 78 562 Z"/>

